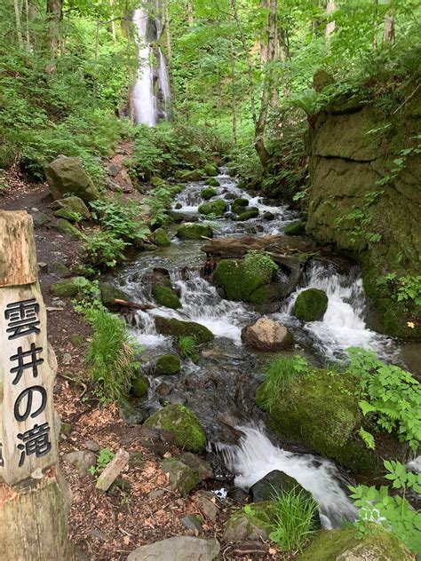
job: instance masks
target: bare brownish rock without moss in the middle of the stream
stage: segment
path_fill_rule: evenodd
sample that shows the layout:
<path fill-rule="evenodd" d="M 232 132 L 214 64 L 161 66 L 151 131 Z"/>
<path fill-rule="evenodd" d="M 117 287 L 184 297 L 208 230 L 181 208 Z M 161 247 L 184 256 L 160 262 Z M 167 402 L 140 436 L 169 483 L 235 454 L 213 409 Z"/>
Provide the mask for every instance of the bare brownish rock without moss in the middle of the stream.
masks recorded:
<path fill-rule="evenodd" d="M 290 332 L 282 323 L 266 317 L 242 328 L 242 341 L 262 351 L 279 351 L 293 343 Z"/>

